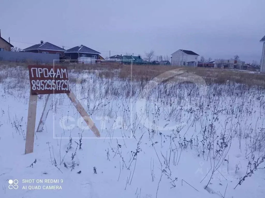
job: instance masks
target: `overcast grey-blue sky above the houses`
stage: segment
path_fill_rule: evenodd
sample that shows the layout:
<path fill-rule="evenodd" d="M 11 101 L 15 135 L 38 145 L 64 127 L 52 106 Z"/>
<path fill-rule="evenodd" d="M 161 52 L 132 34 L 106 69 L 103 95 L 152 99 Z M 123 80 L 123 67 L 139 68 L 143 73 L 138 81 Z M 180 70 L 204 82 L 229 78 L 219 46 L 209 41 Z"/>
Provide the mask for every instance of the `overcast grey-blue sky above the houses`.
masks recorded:
<path fill-rule="evenodd" d="M 83 44 L 104 58 L 109 50 L 144 56 L 185 49 L 259 63 L 265 35 L 264 0 L 1 0 L 1 7 L 1 36 L 14 46 Z"/>

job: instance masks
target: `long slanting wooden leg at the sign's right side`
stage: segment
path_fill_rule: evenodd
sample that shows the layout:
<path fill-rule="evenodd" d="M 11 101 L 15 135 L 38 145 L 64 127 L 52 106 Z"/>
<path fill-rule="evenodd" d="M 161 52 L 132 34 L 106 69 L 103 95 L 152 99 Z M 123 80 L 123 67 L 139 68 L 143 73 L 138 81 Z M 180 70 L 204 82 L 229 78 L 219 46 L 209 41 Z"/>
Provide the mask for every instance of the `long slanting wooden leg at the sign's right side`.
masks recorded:
<path fill-rule="evenodd" d="M 100 137 L 99 130 L 96 128 L 94 122 L 91 120 L 89 115 L 87 114 L 84 107 L 81 105 L 81 103 L 77 100 L 76 96 L 73 94 L 73 92 L 70 90 L 70 93 L 67 93 L 67 96 L 72 101 L 73 105 L 76 107 L 77 111 L 80 113 L 80 115 L 85 120 L 86 124 L 89 126 L 89 128 L 93 131 L 93 133 Z"/>

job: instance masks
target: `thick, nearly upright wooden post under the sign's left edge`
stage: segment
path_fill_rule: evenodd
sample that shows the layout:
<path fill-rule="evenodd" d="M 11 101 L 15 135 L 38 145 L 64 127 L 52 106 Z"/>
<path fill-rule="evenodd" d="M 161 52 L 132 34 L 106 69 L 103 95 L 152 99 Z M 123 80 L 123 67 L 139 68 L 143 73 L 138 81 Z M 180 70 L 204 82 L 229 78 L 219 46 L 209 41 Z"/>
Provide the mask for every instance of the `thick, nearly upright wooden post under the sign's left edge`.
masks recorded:
<path fill-rule="evenodd" d="M 37 111 L 37 100 L 38 100 L 38 95 L 31 95 L 31 93 L 30 93 L 25 154 L 33 152 L 34 136 L 35 136 L 35 123 L 36 123 L 36 111 Z"/>

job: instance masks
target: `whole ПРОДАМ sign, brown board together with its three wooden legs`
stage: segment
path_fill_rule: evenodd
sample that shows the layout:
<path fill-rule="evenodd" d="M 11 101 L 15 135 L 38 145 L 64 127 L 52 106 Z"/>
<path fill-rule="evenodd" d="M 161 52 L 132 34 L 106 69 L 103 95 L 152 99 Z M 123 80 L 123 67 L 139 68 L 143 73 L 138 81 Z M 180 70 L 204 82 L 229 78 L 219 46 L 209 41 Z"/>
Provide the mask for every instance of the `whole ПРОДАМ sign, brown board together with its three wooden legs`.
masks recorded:
<path fill-rule="evenodd" d="M 28 121 L 27 121 L 27 135 L 25 144 L 25 154 L 33 152 L 34 136 L 35 136 L 35 123 L 37 111 L 37 99 L 39 94 L 48 94 L 44 109 L 41 115 L 37 131 L 42 131 L 45 124 L 51 99 L 50 95 L 55 93 L 66 93 L 72 101 L 74 107 L 83 117 L 89 128 L 93 133 L 100 137 L 99 130 L 96 128 L 94 122 L 91 120 L 81 103 L 77 100 L 76 96 L 71 92 L 68 81 L 68 71 L 63 66 L 43 66 L 43 65 L 29 65 L 29 80 L 30 80 L 30 96 L 28 108 Z M 48 105 L 47 105 L 48 104 Z"/>

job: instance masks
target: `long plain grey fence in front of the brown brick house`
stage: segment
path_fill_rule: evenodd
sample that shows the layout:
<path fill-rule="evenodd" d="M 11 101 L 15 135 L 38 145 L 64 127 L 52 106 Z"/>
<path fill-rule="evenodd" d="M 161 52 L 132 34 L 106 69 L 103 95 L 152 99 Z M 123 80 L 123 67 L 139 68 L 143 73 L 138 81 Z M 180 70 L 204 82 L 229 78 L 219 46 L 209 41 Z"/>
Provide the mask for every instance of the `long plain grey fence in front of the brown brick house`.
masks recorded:
<path fill-rule="evenodd" d="M 59 60 L 59 54 L 0 51 L 0 60 L 16 62 L 53 63 L 54 60 Z"/>

